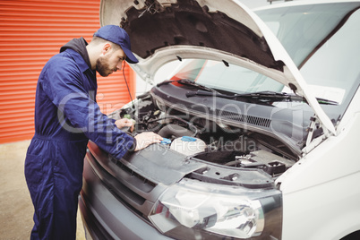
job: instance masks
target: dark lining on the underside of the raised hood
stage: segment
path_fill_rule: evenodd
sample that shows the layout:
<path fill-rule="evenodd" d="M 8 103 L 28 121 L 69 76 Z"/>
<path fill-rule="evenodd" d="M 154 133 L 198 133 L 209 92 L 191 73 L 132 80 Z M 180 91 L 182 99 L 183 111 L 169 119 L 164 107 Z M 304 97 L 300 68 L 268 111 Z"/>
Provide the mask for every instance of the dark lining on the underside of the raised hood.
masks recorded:
<path fill-rule="evenodd" d="M 263 36 L 226 13 L 211 13 L 208 5 L 193 0 L 178 0 L 167 7 L 154 2 L 146 10 L 132 6 L 120 26 L 131 36 L 133 52 L 141 58 L 152 56 L 162 47 L 198 46 L 283 70 L 283 63 L 274 60 Z"/>

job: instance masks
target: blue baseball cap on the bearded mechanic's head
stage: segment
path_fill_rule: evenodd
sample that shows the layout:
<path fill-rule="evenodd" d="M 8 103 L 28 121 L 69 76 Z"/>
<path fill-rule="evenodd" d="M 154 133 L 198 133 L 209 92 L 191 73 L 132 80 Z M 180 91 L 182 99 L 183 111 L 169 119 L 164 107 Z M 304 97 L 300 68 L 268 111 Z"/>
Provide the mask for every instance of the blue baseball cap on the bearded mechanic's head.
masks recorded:
<path fill-rule="evenodd" d="M 139 60 L 133 55 L 129 35 L 127 35 L 126 31 L 119 26 L 105 25 L 94 33 L 94 37 L 106 39 L 123 48 L 126 55 L 126 62 L 130 64 L 139 63 Z"/>

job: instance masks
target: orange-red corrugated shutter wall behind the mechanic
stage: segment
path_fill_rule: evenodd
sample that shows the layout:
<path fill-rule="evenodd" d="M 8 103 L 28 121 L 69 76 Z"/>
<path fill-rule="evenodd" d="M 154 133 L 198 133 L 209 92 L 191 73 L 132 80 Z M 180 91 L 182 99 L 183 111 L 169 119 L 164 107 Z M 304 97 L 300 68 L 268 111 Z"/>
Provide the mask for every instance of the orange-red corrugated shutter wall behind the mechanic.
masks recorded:
<path fill-rule="evenodd" d="M 90 42 L 99 29 L 100 0 L 0 0 L 0 143 L 34 134 L 35 90 L 47 60 L 73 38 Z M 125 76 L 132 96 L 135 77 Z M 98 75 L 98 102 L 104 113 L 130 100 L 123 74 Z"/>

